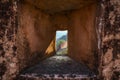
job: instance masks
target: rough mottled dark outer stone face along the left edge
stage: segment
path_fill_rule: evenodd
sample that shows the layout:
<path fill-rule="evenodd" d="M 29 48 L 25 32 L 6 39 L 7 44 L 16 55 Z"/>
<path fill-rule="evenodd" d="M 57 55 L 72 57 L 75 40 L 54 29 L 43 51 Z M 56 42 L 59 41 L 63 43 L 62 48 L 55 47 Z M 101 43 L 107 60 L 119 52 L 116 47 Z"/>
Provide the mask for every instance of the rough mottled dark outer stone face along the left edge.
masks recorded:
<path fill-rule="evenodd" d="M 0 80 L 12 80 L 18 73 L 16 0 L 0 0 Z"/>

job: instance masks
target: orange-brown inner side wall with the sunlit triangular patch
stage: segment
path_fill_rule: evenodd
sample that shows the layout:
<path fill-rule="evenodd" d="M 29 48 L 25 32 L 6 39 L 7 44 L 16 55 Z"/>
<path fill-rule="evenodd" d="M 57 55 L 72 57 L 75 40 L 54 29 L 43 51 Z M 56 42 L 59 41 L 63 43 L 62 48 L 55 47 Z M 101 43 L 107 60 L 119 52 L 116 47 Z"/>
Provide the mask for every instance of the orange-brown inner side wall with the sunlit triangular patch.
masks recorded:
<path fill-rule="evenodd" d="M 20 68 L 28 67 L 55 53 L 55 29 L 50 16 L 25 2 L 19 4 L 17 34 Z"/>

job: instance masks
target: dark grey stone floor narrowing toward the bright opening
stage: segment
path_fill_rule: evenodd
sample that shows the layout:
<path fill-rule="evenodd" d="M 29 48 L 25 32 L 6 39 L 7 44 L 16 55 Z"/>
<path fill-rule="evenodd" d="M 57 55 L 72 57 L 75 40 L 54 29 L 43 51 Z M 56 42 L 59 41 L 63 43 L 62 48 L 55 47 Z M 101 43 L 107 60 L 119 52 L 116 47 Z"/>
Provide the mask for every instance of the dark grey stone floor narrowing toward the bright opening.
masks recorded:
<path fill-rule="evenodd" d="M 68 56 L 52 56 L 24 71 L 19 80 L 96 80 L 85 65 Z"/>

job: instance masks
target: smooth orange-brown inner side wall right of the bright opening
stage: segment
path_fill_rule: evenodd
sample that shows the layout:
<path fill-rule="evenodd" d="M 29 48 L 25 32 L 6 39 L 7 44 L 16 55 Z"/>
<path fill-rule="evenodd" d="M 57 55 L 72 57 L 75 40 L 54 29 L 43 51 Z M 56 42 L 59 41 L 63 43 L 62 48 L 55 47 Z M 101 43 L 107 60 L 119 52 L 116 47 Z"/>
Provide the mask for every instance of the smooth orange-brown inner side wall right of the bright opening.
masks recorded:
<path fill-rule="evenodd" d="M 94 54 L 97 48 L 95 28 L 96 5 L 92 4 L 73 11 L 70 17 L 68 53 L 73 59 L 82 61 L 91 69 L 94 69 Z"/>

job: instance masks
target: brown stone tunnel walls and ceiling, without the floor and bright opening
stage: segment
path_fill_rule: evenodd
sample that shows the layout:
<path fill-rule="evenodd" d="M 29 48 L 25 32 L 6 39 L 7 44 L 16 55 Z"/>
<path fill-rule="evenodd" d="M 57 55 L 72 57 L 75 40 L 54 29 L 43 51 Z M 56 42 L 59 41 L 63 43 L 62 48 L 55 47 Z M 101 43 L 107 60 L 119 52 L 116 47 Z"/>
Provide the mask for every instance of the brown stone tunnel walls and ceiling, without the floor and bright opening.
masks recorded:
<path fill-rule="evenodd" d="M 68 30 L 68 56 L 120 79 L 119 0 L 1 0 L 0 80 L 55 55 L 57 30 Z"/>

